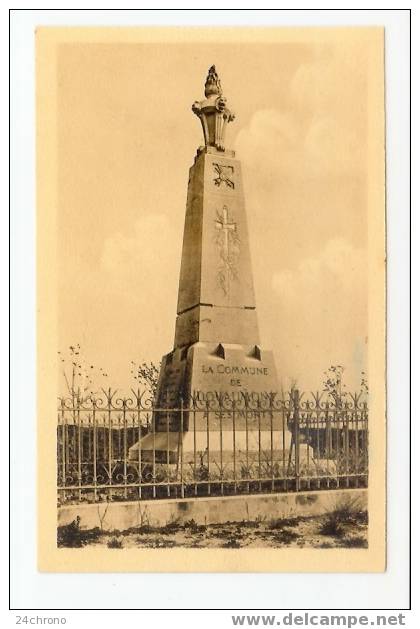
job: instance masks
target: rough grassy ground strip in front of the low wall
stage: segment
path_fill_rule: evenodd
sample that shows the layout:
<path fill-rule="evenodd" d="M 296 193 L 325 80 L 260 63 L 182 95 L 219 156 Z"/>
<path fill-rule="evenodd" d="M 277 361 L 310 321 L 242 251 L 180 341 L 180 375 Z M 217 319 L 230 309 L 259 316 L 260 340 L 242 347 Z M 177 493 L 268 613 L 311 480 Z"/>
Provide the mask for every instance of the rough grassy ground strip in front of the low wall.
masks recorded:
<path fill-rule="evenodd" d="M 323 516 L 199 525 L 172 522 L 127 531 L 83 530 L 79 522 L 58 530 L 58 546 L 108 548 L 367 548 L 366 511 L 337 509 Z"/>

